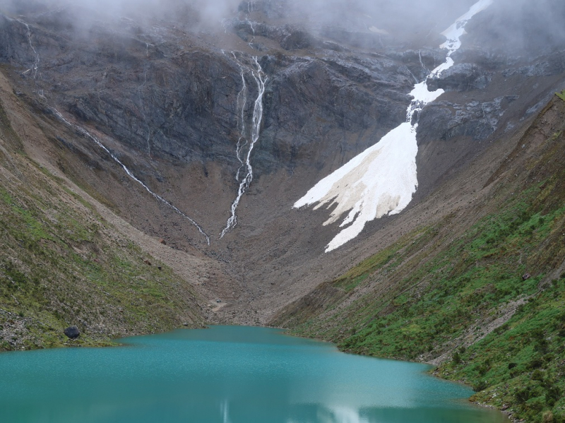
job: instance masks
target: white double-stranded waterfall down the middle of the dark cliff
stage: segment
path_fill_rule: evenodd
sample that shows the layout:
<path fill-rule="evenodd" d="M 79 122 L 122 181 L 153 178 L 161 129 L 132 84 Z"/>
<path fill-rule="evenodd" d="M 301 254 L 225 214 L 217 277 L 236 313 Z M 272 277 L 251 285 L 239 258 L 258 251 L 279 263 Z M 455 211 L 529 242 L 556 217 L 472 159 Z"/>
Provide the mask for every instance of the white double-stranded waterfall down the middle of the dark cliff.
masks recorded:
<path fill-rule="evenodd" d="M 242 132 L 240 132 L 239 140 L 237 141 L 237 151 L 236 151 L 237 160 L 239 160 L 239 162 L 242 164 L 242 166 L 239 167 L 239 169 L 237 169 L 237 175 L 236 175 L 237 181 L 239 181 L 239 174 L 241 173 L 242 169 L 244 169 L 244 172 L 246 173 L 242 181 L 239 182 L 237 197 L 232 203 L 232 208 L 231 208 L 232 215 L 227 220 L 226 226 L 224 230 L 222 230 L 222 233 L 220 234 L 220 239 L 223 238 L 225 234 L 227 234 L 227 232 L 232 230 L 233 227 L 235 227 L 235 225 L 237 225 L 237 214 L 236 214 L 237 206 L 239 205 L 239 201 L 241 201 L 242 196 L 244 195 L 246 190 L 249 189 L 249 185 L 251 184 L 251 181 L 253 181 L 253 167 L 251 166 L 251 153 L 253 152 L 254 146 L 259 139 L 259 134 L 261 131 L 261 121 L 263 120 L 263 95 L 265 94 L 265 84 L 268 79 L 263 73 L 263 68 L 261 68 L 261 64 L 259 64 L 258 58 L 254 56 L 253 61 L 256 66 L 256 69 L 252 67 L 247 68 L 249 73 L 251 73 L 251 76 L 254 78 L 255 83 L 257 84 L 257 98 L 254 102 L 253 117 L 251 118 L 251 136 L 250 136 L 251 140 L 248 142 L 245 133 L 246 125 L 245 125 L 245 112 L 244 112 L 246 105 L 246 91 L 247 91 L 247 86 L 245 83 L 245 75 L 244 75 L 245 66 L 239 60 L 237 60 L 237 57 L 235 55 L 234 58 L 236 58 L 237 63 L 242 69 L 242 80 L 243 80 L 243 88 L 241 91 L 239 91 L 239 94 L 237 95 L 238 107 L 241 104 L 240 125 L 242 130 Z M 242 141 L 245 142 L 242 144 Z M 246 146 L 248 146 L 248 149 L 245 155 L 245 162 L 244 162 L 242 158 L 242 153 L 244 152 L 244 148 Z"/>

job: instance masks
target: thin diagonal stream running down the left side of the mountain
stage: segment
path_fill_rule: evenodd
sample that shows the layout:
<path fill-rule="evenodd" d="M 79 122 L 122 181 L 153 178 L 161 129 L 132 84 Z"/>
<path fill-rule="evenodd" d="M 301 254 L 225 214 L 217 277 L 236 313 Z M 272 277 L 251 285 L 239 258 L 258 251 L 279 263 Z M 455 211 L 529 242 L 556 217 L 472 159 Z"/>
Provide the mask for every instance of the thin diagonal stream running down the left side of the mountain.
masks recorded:
<path fill-rule="evenodd" d="M 9 19 L 9 18 L 8 18 Z M 33 51 L 33 53 L 35 54 L 35 64 L 33 65 L 33 67 L 28 70 L 28 71 L 32 71 L 32 75 L 34 80 L 36 80 L 37 78 L 37 71 L 39 69 L 39 64 L 40 64 L 40 55 L 37 53 L 37 50 L 35 49 L 35 47 L 33 47 L 33 44 L 31 42 L 31 29 L 30 29 L 30 25 L 28 25 L 28 23 L 25 23 L 23 20 L 18 19 L 17 20 L 19 23 L 21 23 L 22 25 L 25 25 L 25 28 L 27 28 L 28 30 L 28 41 L 30 43 L 30 47 Z M 147 54 L 149 52 L 149 44 L 147 44 Z M 27 73 L 28 71 L 26 71 L 25 73 Z M 146 75 L 146 73 L 145 73 Z M 36 86 L 37 86 L 37 81 L 36 81 Z M 38 90 L 37 91 L 37 95 L 39 95 L 40 97 L 42 97 L 42 99 L 47 100 L 47 98 L 44 96 L 42 90 Z M 157 199 L 158 201 L 164 203 L 165 205 L 167 205 L 169 208 L 172 208 L 172 210 L 174 210 L 176 213 L 178 213 L 179 215 L 181 215 L 183 218 L 185 218 L 186 220 L 188 220 L 189 222 L 191 222 L 192 225 L 194 225 L 194 227 L 196 227 L 196 229 L 198 229 L 198 232 L 200 232 L 203 237 L 206 238 L 206 243 L 208 245 L 210 245 L 210 237 L 208 237 L 208 234 L 206 234 L 206 232 L 203 231 L 202 227 L 200 225 L 198 225 L 198 223 L 196 223 L 195 220 L 189 218 L 189 216 L 187 216 L 186 214 L 182 213 L 181 210 L 179 210 L 179 208 L 177 208 L 176 206 L 172 205 L 172 203 L 169 203 L 169 201 L 165 200 L 165 198 L 162 198 L 161 196 L 159 196 L 157 193 L 154 193 L 153 191 L 151 191 L 149 189 L 149 187 L 145 184 L 143 184 L 143 182 L 138 179 L 133 172 L 131 172 L 130 169 L 128 169 L 128 167 L 126 167 L 126 165 L 124 165 L 124 163 L 121 162 L 121 160 L 119 160 L 114 154 L 112 154 L 110 152 L 110 150 L 108 150 L 108 148 L 106 148 L 106 146 L 104 144 L 102 144 L 102 142 L 100 142 L 100 140 L 98 140 L 98 138 L 96 138 L 95 136 L 93 136 L 90 132 L 88 132 L 86 129 L 81 128 L 81 126 L 72 124 L 69 120 L 65 119 L 65 117 L 61 114 L 61 112 L 59 112 L 59 110 L 55 109 L 54 107 L 50 107 L 50 109 L 52 109 L 52 112 L 54 112 L 54 114 L 61 119 L 61 121 L 64 122 L 64 124 L 66 124 L 67 126 L 70 126 L 73 129 L 76 129 L 76 131 L 80 132 L 83 134 L 83 136 L 86 136 L 87 138 L 90 138 L 90 140 L 94 141 L 100 148 L 102 148 L 102 150 L 105 150 L 106 153 L 109 154 L 110 157 L 112 157 L 112 160 L 114 160 L 114 162 L 117 162 L 117 164 L 124 169 L 124 172 L 126 172 L 126 174 L 133 179 L 133 181 L 136 181 L 138 184 L 140 184 L 141 186 L 143 186 L 143 188 L 145 189 L 145 191 L 148 191 L 148 193 L 151 194 L 151 196 L 153 196 L 153 198 Z"/>

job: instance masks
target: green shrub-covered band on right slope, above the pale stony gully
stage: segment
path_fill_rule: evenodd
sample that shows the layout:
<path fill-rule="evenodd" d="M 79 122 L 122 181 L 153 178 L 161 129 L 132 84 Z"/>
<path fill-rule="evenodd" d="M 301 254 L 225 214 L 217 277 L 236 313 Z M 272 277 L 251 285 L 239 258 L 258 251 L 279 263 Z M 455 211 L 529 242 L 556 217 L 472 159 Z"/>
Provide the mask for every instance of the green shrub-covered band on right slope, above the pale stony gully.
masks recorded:
<path fill-rule="evenodd" d="M 533 191 L 539 191 L 539 186 L 524 193 L 523 198 L 533 201 Z M 537 292 L 543 274 L 523 280 L 530 268 L 523 258 L 535 255 L 549 234 L 561 229 L 564 220 L 565 208 L 542 215 L 524 201 L 504 213 L 489 215 L 441 254 L 414 266 L 394 292 L 381 297 L 371 292 L 335 314 L 334 318 L 345 321 L 346 327 L 356 328 L 355 334 L 343 337 L 335 326 L 324 336 L 331 335 L 345 350 L 408 359 L 428 355 L 430 345 L 464 336 L 480 338 L 482 324 L 489 316 L 497 316 L 514 300 Z M 348 292 L 377 272 L 393 274 L 406 257 L 421 262 L 418 251 L 429 251 L 427 246 L 438 237 L 438 228 L 412 233 L 359 263 L 333 286 Z M 319 326 L 308 322 L 299 330 L 318 335 Z"/>

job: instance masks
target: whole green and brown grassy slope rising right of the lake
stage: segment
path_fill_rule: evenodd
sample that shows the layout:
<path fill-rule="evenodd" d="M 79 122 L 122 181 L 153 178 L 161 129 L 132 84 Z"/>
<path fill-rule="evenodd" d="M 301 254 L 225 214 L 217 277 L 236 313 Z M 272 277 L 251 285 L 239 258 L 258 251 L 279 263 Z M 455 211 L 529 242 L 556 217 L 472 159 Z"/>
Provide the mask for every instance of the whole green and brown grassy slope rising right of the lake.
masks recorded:
<path fill-rule="evenodd" d="M 565 421 L 564 131 L 555 97 L 482 201 L 398 239 L 273 323 L 351 352 L 435 359 L 477 401 Z"/>

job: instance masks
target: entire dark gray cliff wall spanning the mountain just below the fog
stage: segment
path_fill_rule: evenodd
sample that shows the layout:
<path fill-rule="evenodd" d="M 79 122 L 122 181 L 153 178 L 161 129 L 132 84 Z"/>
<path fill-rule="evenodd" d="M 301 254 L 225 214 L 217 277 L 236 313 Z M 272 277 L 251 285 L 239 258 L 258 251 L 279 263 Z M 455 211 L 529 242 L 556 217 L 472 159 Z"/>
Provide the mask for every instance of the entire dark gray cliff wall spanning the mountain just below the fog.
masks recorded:
<path fill-rule="evenodd" d="M 0 61 L 38 109 L 57 107 L 96 131 L 143 181 L 167 180 L 159 169 L 169 165 L 198 167 L 204 178 L 215 169 L 212 179 L 231 200 L 236 146 L 242 136 L 249 139 L 258 95 L 256 58 L 266 85 L 251 155 L 254 177 L 305 175 L 285 188 L 290 206 L 290 197 L 307 188 L 297 185 L 316 183 L 405 121 L 408 94 L 445 61 L 446 51 L 438 47 L 444 28 L 403 38 L 405 28 L 395 34 L 348 26 L 367 18 L 357 12 L 343 23 L 304 26 L 286 20 L 286 7 L 285 1 L 244 1 L 216 32 L 198 27 L 196 18 L 185 20 L 186 13 L 148 22 L 94 20 L 81 30 L 74 12 L 28 13 L 21 22 L 0 16 Z M 491 48 L 485 37 L 497 36 L 487 30 L 493 19 L 473 18 L 453 56 L 456 65 L 428 81 L 446 94 L 419 117 L 418 143 L 432 145 L 417 158 L 421 191 L 463 163 L 464 153 L 476 154 L 482 141 L 516 126 L 562 81 L 562 45 L 535 55 Z M 61 137 L 57 143 L 80 150 Z M 103 168 L 107 157 L 98 153 L 85 155 L 89 168 Z M 149 165 L 137 168 L 139 162 Z M 206 215 L 209 206 L 194 208 Z"/>

